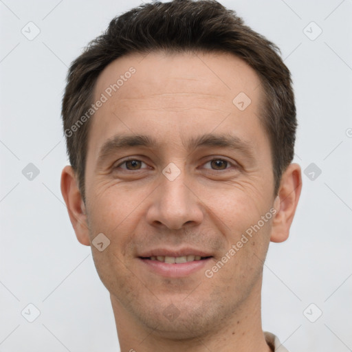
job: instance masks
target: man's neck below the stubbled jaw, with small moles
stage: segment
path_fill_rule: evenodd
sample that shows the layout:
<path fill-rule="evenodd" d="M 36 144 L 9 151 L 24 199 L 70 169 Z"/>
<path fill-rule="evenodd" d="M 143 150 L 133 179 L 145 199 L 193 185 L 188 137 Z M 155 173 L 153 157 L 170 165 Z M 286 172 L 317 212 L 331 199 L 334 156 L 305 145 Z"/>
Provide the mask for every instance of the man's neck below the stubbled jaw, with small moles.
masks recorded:
<path fill-rule="evenodd" d="M 272 352 L 261 327 L 261 280 L 241 307 L 190 338 L 166 336 L 161 326 L 146 327 L 111 295 L 121 352 Z"/>

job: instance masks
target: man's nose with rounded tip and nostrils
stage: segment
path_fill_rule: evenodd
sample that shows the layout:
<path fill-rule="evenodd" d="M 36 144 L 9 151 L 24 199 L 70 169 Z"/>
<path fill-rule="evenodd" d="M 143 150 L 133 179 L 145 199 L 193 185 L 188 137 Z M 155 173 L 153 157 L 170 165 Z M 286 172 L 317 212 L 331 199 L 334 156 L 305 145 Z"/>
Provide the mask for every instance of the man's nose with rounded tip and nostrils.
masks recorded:
<path fill-rule="evenodd" d="M 173 180 L 163 174 L 160 179 L 159 186 L 151 195 L 146 214 L 148 223 L 166 226 L 170 230 L 179 230 L 185 225 L 199 225 L 203 220 L 203 206 L 184 171 Z"/>

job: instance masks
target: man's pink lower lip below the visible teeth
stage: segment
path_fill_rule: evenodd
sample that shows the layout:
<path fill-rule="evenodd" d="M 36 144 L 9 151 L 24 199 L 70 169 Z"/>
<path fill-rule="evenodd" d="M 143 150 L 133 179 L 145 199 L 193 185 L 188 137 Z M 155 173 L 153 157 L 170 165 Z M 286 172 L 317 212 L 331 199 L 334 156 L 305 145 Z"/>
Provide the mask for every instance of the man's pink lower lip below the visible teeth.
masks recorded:
<path fill-rule="evenodd" d="M 161 261 L 152 261 L 151 259 L 138 258 L 148 270 L 166 277 L 179 278 L 188 276 L 201 270 L 212 258 L 202 259 L 201 261 L 188 261 L 187 263 L 168 264 Z"/>

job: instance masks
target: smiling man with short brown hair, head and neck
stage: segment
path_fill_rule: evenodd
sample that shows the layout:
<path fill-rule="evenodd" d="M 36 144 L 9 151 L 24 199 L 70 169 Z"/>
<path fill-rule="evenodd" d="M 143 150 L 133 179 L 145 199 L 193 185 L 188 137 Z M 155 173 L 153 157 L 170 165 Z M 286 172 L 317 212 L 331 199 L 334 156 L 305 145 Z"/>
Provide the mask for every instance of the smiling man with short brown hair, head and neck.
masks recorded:
<path fill-rule="evenodd" d="M 287 351 L 261 327 L 302 187 L 277 47 L 216 1 L 142 5 L 72 63 L 63 123 L 61 190 L 121 351 Z"/>

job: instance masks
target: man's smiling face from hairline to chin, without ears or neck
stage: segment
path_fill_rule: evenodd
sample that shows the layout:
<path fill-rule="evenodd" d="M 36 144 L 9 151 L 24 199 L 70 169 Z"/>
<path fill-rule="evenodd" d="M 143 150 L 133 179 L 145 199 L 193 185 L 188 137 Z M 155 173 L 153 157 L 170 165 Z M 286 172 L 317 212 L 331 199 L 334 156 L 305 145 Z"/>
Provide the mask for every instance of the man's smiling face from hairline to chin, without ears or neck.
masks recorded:
<path fill-rule="evenodd" d="M 130 67 L 135 73 L 109 97 Z M 113 304 L 146 327 L 174 336 L 206 331 L 260 292 L 272 221 L 229 254 L 274 203 L 259 84 L 230 54 L 124 56 L 98 78 L 94 102 L 108 99 L 89 132 L 89 239 L 109 239 L 102 252 L 92 246 L 98 274 Z M 107 148 L 130 135 L 153 143 Z M 225 137 L 236 143 L 221 145 Z M 230 259 L 212 270 L 226 253 Z M 169 264 L 147 258 L 153 254 L 210 258 Z"/>

